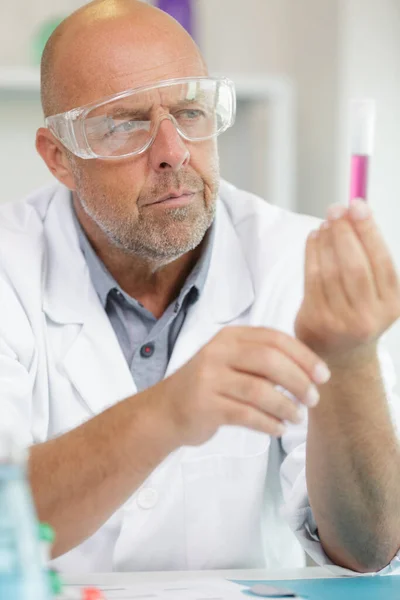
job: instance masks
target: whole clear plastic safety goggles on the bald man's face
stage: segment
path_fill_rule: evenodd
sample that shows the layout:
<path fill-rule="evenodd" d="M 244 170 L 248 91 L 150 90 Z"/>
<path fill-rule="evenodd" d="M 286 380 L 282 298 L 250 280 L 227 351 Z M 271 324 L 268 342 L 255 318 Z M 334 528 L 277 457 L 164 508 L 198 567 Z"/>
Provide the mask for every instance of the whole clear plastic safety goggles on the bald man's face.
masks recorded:
<path fill-rule="evenodd" d="M 45 124 L 80 158 L 117 159 L 146 152 L 164 119 L 184 140 L 201 142 L 231 127 L 235 113 L 229 79 L 190 77 L 126 90 L 47 117 Z"/>

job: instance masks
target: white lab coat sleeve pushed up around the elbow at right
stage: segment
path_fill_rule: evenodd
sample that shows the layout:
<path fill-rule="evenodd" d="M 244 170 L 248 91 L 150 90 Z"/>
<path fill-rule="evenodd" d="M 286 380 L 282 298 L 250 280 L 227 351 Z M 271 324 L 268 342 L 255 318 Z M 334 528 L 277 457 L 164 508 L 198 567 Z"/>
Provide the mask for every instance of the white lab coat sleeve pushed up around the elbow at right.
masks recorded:
<path fill-rule="evenodd" d="M 398 435 L 400 435 L 400 399 L 393 393 L 396 383 L 393 363 L 384 348 L 380 348 L 380 361 L 390 412 Z M 326 555 L 318 537 L 307 493 L 306 484 L 306 434 L 307 423 L 289 427 L 282 438 L 284 459 L 281 465 L 281 485 L 284 499 L 283 514 L 304 550 L 319 565 L 332 570 L 337 575 L 358 575 L 350 569 L 335 565 Z M 389 565 L 378 573 L 366 575 L 400 574 L 400 550 Z"/>

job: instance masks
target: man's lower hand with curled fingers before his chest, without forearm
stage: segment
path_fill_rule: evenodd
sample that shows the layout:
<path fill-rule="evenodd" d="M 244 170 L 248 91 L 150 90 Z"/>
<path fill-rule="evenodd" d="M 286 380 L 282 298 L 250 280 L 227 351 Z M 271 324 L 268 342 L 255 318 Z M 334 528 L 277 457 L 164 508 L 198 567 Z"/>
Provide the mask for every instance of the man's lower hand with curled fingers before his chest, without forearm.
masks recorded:
<path fill-rule="evenodd" d="M 273 329 L 226 327 L 152 392 L 177 446 L 198 445 L 222 425 L 282 435 L 285 421 L 304 418 L 301 404 L 317 404 L 316 384 L 328 379 L 325 363 L 299 340 Z"/>

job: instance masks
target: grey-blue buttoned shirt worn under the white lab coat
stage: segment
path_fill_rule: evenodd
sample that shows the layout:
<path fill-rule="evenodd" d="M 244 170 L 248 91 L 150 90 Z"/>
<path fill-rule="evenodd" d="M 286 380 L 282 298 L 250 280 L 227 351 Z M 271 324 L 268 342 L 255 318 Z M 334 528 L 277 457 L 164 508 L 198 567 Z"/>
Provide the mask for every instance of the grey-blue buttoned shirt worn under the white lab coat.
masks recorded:
<path fill-rule="evenodd" d="M 94 288 L 114 328 L 136 387 L 139 391 L 144 390 L 163 379 L 188 308 L 197 302 L 204 288 L 215 227 L 211 226 L 207 232 L 203 253 L 179 296 L 162 317 L 156 319 L 121 289 L 94 251 L 75 212 L 74 218 Z"/>

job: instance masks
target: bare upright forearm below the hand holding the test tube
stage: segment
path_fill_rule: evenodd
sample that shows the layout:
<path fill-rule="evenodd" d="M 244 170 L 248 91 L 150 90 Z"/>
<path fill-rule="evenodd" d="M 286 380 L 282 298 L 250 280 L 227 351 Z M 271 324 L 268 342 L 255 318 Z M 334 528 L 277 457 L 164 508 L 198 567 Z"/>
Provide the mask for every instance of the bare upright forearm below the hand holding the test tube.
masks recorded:
<path fill-rule="evenodd" d="M 400 547 L 400 452 L 376 354 L 332 369 L 310 411 L 307 485 L 326 553 L 342 566 L 384 567 Z"/>

